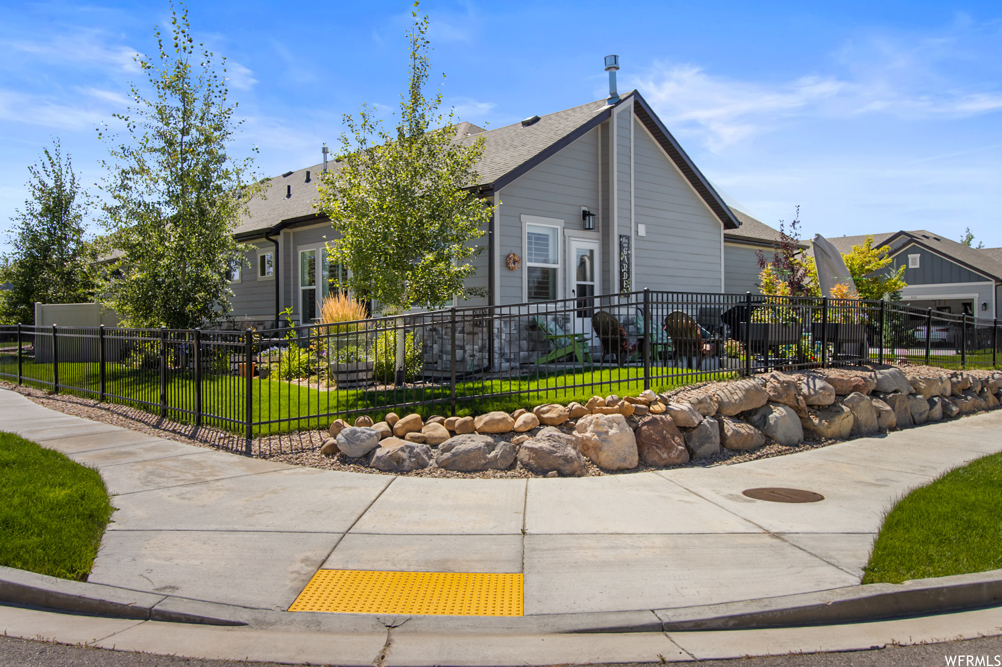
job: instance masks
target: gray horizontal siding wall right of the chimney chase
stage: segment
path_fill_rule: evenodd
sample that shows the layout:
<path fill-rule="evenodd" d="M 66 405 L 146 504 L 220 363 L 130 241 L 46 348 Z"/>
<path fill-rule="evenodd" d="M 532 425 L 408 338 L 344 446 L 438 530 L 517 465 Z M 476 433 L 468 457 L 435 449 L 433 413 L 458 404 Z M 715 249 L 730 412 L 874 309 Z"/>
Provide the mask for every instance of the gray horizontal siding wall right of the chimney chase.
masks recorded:
<path fill-rule="evenodd" d="M 721 291 L 719 220 L 633 122 L 636 222 L 647 227 L 634 242 L 634 289 Z"/>

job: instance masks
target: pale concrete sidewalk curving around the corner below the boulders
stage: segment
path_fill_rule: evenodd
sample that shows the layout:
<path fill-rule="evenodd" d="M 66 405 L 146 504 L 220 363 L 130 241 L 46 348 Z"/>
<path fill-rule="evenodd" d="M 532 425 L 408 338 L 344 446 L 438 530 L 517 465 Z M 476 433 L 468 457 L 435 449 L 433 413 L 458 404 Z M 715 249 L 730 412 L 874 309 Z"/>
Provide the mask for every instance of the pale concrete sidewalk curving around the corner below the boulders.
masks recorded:
<path fill-rule="evenodd" d="M 0 430 L 96 467 L 115 496 L 89 581 L 275 610 L 318 568 L 524 572 L 526 616 L 851 586 L 883 512 L 945 470 L 1002 450 L 1000 427 L 1002 411 L 715 468 L 431 479 L 248 459 L 0 391 Z M 826 500 L 741 495 L 764 486 Z"/>

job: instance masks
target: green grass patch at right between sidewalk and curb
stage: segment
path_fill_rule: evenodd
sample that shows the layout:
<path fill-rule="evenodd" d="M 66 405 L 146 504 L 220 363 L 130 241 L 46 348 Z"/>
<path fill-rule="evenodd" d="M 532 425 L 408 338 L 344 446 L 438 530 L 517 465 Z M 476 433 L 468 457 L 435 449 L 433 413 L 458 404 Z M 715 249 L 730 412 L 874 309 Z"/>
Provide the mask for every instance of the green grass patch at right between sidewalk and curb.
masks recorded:
<path fill-rule="evenodd" d="M 884 519 L 863 583 L 1002 568 L 1002 454 L 952 470 Z"/>

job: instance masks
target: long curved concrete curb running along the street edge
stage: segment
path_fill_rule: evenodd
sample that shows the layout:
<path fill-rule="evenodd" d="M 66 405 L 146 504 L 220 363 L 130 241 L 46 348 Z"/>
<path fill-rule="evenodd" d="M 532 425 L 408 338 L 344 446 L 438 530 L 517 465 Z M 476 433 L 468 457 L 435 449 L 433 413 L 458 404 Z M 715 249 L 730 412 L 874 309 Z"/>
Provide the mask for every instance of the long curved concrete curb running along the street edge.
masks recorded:
<path fill-rule="evenodd" d="M 69 581 L 0 566 L 0 601 L 142 620 L 277 630 L 372 632 L 393 627 L 405 633 L 450 634 L 683 632 L 833 625 L 990 607 L 1002 603 L 1002 570 L 699 607 L 483 617 L 291 614 Z"/>

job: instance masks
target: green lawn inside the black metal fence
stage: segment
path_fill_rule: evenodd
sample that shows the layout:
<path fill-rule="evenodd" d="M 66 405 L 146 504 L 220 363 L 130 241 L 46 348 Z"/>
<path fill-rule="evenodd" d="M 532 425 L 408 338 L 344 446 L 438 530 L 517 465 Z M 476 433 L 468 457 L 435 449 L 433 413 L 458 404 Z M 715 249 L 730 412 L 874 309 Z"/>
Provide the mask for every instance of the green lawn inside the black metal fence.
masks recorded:
<path fill-rule="evenodd" d="M 40 382 L 51 382 L 52 364 L 23 364 L 23 376 L 29 386 L 47 388 Z M 722 380 L 733 375 L 730 371 L 702 373 L 695 376 L 657 377 L 665 375 L 663 368 L 651 367 L 651 388 L 664 391 L 671 387 L 697 381 Z M 0 372 L 16 374 L 16 360 L 0 355 Z M 473 379 L 456 383 L 456 413 L 458 415 L 482 414 L 492 410 L 512 412 L 518 408 L 533 408 L 545 403 L 587 401 L 595 394 L 619 396 L 635 395 L 643 390 L 643 369 L 637 366 L 622 368 L 603 367 L 593 370 L 568 367 L 563 370 L 546 367 L 527 368 L 523 375 L 510 378 Z M 106 384 L 109 402 L 133 404 L 121 397 L 145 401 L 140 405 L 151 412 L 159 411 L 159 373 L 156 370 L 131 369 L 121 364 L 106 364 Z M 9 377 L 7 379 L 10 379 Z M 96 363 L 60 363 L 59 382 L 78 389 L 61 389 L 64 393 L 96 398 L 99 388 Z M 81 391 L 82 390 L 82 391 Z M 202 412 L 204 424 L 219 426 L 242 433 L 245 413 L 246 384 L 236 375 L 212 376 L 202 380 Z M 382 420 L 390 411 L 404 409 L 425 417 L 432 414 L 451 413 L 451 390 L 448 383 L 416 385 L 412 387 L 376 389 L 331 390 L 311 385 L 300 385 L 276 379 L 258 379 L 252 382 L 253 415 L 256 422 L 266 423 L 255 428 L 255 435 L 280 433 L 291 430 L 325 428 L 331 417 L 319 414 L 344 414 L 353 419 L 368 415 Z M 483 397 L 485 393 L 503 394 Z M 119 398 L 115 398 L 117 395 Z M 168 416 L 181 422 L 190 422 L 192 416 L 181 410 L 194 409 L 194 380 L 189 371 L 171 371 L 168 374 Z M 393 406 L 407 405 L 406 408 Z M 220 419 L 221 418 L 221 419 Z M 280 420 L 280 421 L 276 421 Z"/>

